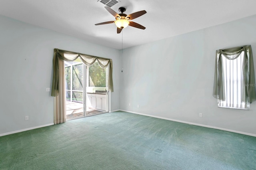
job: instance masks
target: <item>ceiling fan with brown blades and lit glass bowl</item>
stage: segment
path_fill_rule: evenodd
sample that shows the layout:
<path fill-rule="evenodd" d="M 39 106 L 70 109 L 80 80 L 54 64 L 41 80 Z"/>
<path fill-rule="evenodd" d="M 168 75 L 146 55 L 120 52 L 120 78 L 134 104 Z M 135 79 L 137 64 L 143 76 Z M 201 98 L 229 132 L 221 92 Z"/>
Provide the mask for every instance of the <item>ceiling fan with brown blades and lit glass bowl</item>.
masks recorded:
<path fill-rule="evenodd" d="M 135 18 L 138 18 L 139 16 L 142 16 L 142 15 L 146 14 L 147 12 L 145 10 L 134 12 L 130 15 L 126 15 L 126 14 L 123 14 L 126 11 L 126 9 L 124 7 L 120 7 L 118 9 L 119 12 L 121 12 L 121 14 L 116 13 L 114 10 L 112 10 L 108 6 L 105 6 L 105 8 L 106 8 L 106 10 L 108 10 L 108 12 L 110 14 L 112 14 L 116 18 L 116 20 L 115 21 L 101 22 L 101 23 L 95 24 L 96 26 L 103 25 L 103 24 L 115 23 L 116 26 L 117 26 L 117 34 L 119 34 L 122 31 L 122 29 L 126 28 L 127 26 L 132 26 L 132 27 L 135 27 L 135 28 L 140 28 L 142 30 L 145 30 L 146 27 L 144 27 L 140 24 L 137 24 L 136 22 L 130 21 L 130 20 L 133 20 Z"/>

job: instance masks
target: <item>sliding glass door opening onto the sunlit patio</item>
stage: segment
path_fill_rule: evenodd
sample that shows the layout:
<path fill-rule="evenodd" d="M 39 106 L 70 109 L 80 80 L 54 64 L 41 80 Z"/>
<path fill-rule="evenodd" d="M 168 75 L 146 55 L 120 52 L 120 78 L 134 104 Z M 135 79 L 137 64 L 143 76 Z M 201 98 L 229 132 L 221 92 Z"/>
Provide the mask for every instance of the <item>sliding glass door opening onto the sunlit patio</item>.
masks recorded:
<path fill-rule="evenodd" d="M 65 61 L 65 78 L 67 121 L 109 111 L 108 67 L 86 66 L 79 58 Z"/>

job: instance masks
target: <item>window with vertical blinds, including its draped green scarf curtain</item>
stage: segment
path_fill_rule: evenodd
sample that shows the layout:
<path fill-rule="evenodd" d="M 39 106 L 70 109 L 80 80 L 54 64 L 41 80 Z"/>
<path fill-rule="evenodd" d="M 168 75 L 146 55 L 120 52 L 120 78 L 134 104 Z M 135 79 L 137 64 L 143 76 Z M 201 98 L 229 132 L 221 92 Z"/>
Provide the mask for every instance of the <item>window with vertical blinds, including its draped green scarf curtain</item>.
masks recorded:
<path fill-rule="evenodd" d="M 249 109 L 256 100 L 250 45 L 216 51 L 214 92 L 218 107 Z"/>

